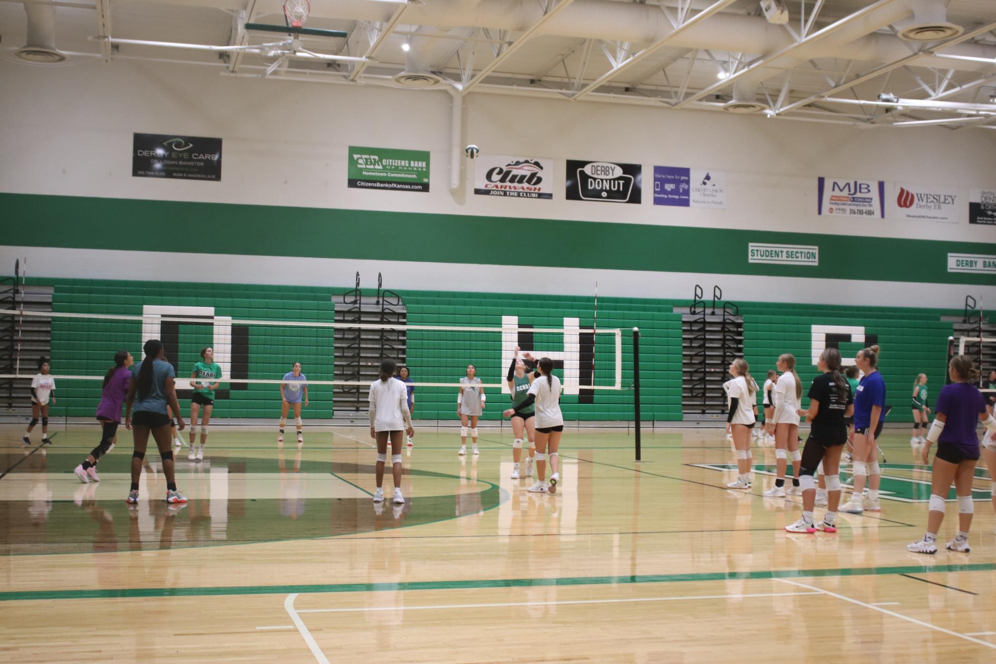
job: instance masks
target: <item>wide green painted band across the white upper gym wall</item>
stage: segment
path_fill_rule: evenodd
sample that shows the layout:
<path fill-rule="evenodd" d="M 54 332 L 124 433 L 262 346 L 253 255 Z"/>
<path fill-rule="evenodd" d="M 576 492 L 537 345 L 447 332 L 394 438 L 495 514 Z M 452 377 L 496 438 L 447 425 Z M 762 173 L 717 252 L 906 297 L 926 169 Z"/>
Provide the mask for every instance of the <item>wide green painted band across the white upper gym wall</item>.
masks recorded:
<path fill-rule="evenodd" d="M 949 252 L 996 255 L 981 242 L 17 193 L 0 193 L 0 209 L 33 222 L 9 224 L 4 242 L 32 247 L 536 265 L 509 251 L 509 238 L 528 235 L 550 248 L 540 262 L 558 268 L 996 283 L 947 272 Z M 205 235 L 209 244 L 195 239 Z M 751 242 L 816 245 L 820 265 L 751 264 Z"/>

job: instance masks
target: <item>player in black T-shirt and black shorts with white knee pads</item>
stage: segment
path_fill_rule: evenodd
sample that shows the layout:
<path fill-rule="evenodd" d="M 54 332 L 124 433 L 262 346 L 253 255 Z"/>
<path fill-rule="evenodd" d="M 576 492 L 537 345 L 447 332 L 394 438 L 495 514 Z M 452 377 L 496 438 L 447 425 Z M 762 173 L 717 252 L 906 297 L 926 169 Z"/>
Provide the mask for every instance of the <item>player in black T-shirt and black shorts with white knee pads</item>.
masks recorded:
<path fill-rule="evenodd" d="M 841 453 L 848 442 L 848 425 L 845 418 L 854 412 L 855 399 L 851 385 L 841 373 L 841 351 L 826 348 L 817 360 L 821 375 L 810 386 L 808 410 L 799 415 L 809 418 L 811 428 L 799 470 L 799 484 L 803 491 L 803 516 L 791 526 L 789 533 L 837 532 L 837 509 L 841 504 Z M 813 523 L 816 504 L 816 481 L 813 474 L 823 464 L 823 478 L 827 487 L 827 515 L 819 524 Z"/>

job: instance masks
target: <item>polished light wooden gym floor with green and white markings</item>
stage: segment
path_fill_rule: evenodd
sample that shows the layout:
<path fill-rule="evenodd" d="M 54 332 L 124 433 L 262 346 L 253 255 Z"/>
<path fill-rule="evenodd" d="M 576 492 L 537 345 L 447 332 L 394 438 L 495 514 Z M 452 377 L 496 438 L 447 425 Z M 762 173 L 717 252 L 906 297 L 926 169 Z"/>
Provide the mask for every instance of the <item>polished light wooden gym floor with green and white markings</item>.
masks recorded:
<path fill-rule="evenodd" d="M 272 427 L 212 424 L 203 462 L 178 455 L 189 503 L 162 501 L 151 454 L 135 507 L 124 430 L 89 485 L 96 426 L 21 432 L 0 427 L 3 662 L 996 661 L 988 474 L 971 553 L 907 553 L 929 476 L 905 429 L 883 436 L 882 511 L 837 535 L 783 530 L 801 508 L 761 496 L 772 448 L 727 490 L 721 429 L 644 433 L 641 464 L 625 430 L 568 429 L 549 496 L 509 479 L 507 426 L 477 458 L 420 428 L 403 506 L 371 501 L 366 429 L 278 450 Z"/>

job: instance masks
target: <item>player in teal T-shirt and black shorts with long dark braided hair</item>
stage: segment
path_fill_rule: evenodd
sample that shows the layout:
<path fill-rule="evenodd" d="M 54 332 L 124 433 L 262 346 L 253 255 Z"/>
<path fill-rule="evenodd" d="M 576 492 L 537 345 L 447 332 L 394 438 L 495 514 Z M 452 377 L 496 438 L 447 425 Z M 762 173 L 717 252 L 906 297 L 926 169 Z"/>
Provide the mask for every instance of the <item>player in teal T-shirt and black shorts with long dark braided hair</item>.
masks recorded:
<path fill-rule="evenodd" d="M 134 439 L 134 452 L 131 453 L 131 491 L 126 502 L 138 502 L 138 479 L 141 477 L 141 461 L 145 458 L 148 435 L 152 434 L 155 446 L 162 458 L 162 472 L 166 476 L 166 502 L 186 503 L 186 498 L 176 490 L 176 476 L 173 472 L 173 450 L 169 446 L 168 405 L 176 413 L 180 431 L 184 428 L 180 404 L 176 402 L 176 371 L 173 365 L 162 360 L 162 341 L 150 338 L 142 346 L 144 358 L 134 365 L 131 383 L 128 385 L 124 407 L 124 426 L 131 429 Z M 134 418 L 131 411 L 134 410 Z"/>

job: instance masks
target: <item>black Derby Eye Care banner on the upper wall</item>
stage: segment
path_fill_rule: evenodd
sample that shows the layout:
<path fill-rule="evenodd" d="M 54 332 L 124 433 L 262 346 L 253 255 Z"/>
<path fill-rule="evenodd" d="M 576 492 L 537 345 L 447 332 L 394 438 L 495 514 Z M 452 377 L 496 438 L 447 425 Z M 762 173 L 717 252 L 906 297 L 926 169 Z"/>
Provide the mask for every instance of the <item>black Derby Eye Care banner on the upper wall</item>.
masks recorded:
<path fill-rule="evenodd" d="M 131 176 L 221 181 L 221 138 L 132 133 Z"/>

